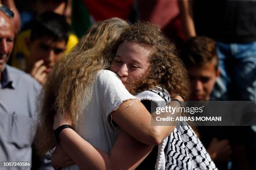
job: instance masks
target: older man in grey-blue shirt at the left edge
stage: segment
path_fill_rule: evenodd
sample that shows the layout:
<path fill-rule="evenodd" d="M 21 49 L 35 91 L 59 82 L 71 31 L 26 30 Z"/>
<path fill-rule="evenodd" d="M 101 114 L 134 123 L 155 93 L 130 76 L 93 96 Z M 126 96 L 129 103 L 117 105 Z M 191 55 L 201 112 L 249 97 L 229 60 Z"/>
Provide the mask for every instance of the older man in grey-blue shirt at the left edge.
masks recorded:
<path fill-rule="evenodd" d="M 10 164 L 14 161 L 27 161 L 31 166 L 32 119 L 41 90 L 33 77 L 6 64 L 15 37 L 13 16 L 0 5 L 0 169 L 21 169 L 21 164 Z"/>

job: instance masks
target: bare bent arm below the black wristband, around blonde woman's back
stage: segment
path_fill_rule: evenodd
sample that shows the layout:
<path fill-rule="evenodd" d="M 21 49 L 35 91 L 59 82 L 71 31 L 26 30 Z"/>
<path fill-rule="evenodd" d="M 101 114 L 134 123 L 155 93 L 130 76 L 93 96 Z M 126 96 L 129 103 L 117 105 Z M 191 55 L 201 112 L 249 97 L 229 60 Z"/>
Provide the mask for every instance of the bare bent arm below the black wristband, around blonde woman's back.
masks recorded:
<path fill-rule="evenodd" d="M 120 133 L 109 154 L 95 148 L 69 128 L 62 130 L 59 138 L 61 147 L 83 170 L 133 170 L 154 147 L 138 142 L 125 132 Z"/>

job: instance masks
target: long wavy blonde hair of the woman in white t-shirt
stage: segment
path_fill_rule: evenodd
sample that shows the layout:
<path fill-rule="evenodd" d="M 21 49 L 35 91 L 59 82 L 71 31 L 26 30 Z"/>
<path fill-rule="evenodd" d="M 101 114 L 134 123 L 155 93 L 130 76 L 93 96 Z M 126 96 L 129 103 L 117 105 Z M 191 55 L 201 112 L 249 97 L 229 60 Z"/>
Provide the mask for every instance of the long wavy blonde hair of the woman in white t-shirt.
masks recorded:
<path fill-rule="evenodd" d="M 52 125 L 57 110 L 68 112 L 76 129 L 78 117 L 90 102 L 97 71 L 110 67 L 111 50 L 126 28 L 128 24 L 119 18 L 95 23 L 79 43 L 54 65 L 41 93 L 36 135 L 40 154 L 46 153 L 56 143 Z"/>

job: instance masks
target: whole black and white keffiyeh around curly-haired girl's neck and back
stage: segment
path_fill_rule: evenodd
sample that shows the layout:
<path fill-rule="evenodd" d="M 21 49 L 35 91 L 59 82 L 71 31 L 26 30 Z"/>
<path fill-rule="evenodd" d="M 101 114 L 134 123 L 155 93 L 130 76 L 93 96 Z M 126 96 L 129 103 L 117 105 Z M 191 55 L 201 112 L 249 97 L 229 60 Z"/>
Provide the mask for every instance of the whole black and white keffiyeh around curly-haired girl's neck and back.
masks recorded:
<path fill-rule="evenodd" d="M 151 100 L 158 107 L 171 102 L 169 93 L 161 87 L 136 95 Z M 166 104 L 163 105 L 165 101 Z M 218 170 L 194 130 L 187 122 L 179 122 L 174 131 L 158 146 L 156 170 Z"/>

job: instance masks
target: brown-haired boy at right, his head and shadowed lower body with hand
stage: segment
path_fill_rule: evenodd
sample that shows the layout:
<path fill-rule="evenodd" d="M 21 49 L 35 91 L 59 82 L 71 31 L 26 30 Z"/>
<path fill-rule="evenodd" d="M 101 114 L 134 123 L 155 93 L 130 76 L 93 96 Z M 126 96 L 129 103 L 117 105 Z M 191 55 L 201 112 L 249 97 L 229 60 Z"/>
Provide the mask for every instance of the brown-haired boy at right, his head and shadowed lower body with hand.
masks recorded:
<path fill-rule="evenodd" d="M 181 58 L 187 68 L 190 83 L 192 101 L 213 100 L 210 95 L 217 78 L 220 75 L 218 69 L 218 56 L 216 53 L 216 43 L 212 39 L 204 36 L 193 37 L 182 46 Z M 207 148 L 212 160 L 219 169 L 227 168 L 231 148 L 229 141 L 223 134 L 220 127 L 198 127 L 202 137 L 202 143 Z M 211 130 L 212 133 L 209 133 Z M 219 139 L 221 138 L 221 140 Z"/>

